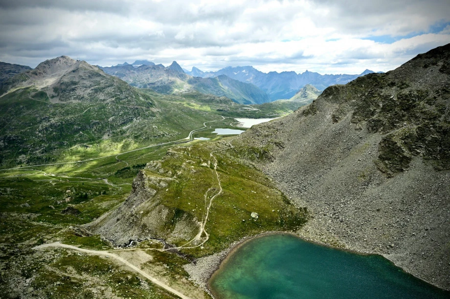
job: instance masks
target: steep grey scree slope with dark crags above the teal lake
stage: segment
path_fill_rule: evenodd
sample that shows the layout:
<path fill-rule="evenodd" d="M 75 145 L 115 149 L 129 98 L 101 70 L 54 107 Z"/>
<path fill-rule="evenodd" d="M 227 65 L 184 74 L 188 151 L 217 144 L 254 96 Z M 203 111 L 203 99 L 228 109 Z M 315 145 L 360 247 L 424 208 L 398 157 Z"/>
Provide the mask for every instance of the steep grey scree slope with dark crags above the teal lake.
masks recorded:
<path fill-rule="evenodd" d="M 450 44 L 328 87 L 234 146 L 312 212 L 299 235 L 450 289 Z"/>

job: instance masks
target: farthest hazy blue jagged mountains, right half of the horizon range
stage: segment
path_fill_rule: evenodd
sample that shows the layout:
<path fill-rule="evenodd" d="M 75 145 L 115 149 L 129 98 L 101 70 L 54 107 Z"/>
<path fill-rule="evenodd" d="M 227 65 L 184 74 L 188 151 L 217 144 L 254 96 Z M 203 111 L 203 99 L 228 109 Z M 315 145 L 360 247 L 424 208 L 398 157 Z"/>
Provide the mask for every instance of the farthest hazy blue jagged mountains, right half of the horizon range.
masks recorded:
<path fill-rule="evenodd" d="M 278 99 L 290 99 L 298 89 L 308 84 L 323 90 L 330 85 L 346 84 L 359 76 L 373 73 L 373 71 L 366 69 L 360 75 L 320 75 L 308 70 L 301 74 L 293 71 L 263 73 L 253 66 L 228 66 L 216 72 L 203 72 L 198 68 L 192 68 L 192 71 L 187 74 L 194 76 L 194 73 L 195 76 L 203 78 L 226 75 L 231 79 L 254 84 L 267 92 L 271 101 L 275 101 Z"/>

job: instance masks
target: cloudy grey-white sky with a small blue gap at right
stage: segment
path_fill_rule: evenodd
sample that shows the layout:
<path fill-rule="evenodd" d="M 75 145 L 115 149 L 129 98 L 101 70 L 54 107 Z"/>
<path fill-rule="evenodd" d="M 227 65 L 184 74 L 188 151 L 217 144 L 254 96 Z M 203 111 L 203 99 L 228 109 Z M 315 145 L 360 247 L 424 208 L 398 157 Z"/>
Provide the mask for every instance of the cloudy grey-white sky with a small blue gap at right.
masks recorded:
<path fill-rule="evenodd" d="M 1 0 L 0 61 L 388 71 L 450 43 L 449 0 Z"/>

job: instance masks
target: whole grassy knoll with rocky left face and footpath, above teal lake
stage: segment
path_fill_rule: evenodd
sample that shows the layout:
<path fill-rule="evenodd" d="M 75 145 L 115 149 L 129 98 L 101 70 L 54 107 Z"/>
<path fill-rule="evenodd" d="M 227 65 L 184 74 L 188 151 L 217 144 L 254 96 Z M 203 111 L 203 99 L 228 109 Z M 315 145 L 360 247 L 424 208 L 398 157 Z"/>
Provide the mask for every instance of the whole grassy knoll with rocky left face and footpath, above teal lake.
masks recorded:
<path fill-rule="evenodd" d="M 90 228 L 117 244 L 162 238 L 192 256 L 219 252 L 244 236 L 298 229 L 307 211 L 242 164 L 230 139 L 170 149 L 147 164 L 123 206 Z"/>

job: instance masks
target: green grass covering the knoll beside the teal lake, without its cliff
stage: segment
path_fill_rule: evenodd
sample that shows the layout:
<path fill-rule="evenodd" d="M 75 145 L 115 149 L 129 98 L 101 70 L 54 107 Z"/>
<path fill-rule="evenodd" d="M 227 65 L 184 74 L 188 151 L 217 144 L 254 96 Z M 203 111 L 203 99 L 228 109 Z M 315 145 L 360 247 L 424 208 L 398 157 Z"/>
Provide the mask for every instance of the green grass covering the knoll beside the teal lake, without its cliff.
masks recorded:
<path fill-rule="evenodd" d="M 174 148 L 161 161 L 160 169 L 177 173 L 177 178 L 164 187 L 165 192 L 157 192 L 153 200 L 189 214 L 190 218 L 203 219 L 209 200 L 220 189 L 213 166 L 215 160 L 210 153 L 217 159 L 223 192 L 211 205 L 205 225 L 209 239 L 203 248 L 182 249 L 193 256 L 218 252 L 244 236 L 264 231 L 293 231 L 306 222 L 307 213 L 293 206 L 264 174 L 243 165 L 239 152 L 229 141 L 226 138 Z M 158 169 L 151 168 L 146 170 L 148 176 L 153 175 L 150 171 L 158 173 Z M 258 219 L 250 216 L 252 212 L 259 214 Z M 172 230 L 176 225 L 177 219 L 173 220 L 168 221 L 167 229 Z M 180 239 L 176 245 L 187 241 Z"/>

